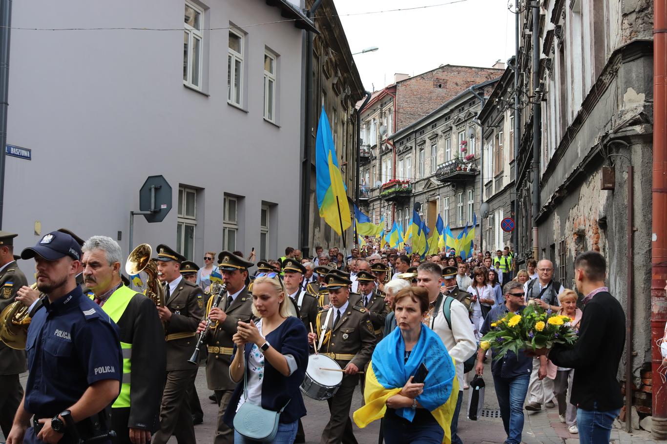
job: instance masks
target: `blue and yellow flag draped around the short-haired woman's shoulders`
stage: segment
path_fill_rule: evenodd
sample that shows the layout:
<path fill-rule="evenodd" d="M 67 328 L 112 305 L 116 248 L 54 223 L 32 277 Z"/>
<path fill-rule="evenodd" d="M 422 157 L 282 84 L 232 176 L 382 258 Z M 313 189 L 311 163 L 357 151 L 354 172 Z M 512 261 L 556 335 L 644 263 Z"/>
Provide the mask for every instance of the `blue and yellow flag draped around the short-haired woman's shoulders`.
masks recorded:
<path fill-rule="evenodd" d="M 424 391 L 417 401 L 431 412 L 445 431 L 443 443 L 451 443 L 451 423 L 459 394 L 454 360 L 450 357 L 440 337 L 430 328 L 422 326 L 422 332 L 405 362 L 406 344 L 400 329 L 394 330 L 376 345 L 366 371 L 364 400 L 366 405 L 354 412 L 354 422 L 362 429 L 382 419 L 387 409 L 387 399 L 398 394 L 405 383 L 424 363 L 428 375 Z M 403 407 L 396 415 L 412 422 L 415 410 Z"/>

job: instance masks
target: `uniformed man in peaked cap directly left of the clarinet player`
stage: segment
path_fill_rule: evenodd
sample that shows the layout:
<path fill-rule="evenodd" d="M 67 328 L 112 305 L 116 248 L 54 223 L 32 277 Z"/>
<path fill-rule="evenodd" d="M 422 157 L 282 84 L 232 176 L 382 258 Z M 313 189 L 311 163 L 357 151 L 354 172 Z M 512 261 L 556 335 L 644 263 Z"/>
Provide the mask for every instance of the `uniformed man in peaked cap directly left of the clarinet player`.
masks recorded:
<path fill-rule="evenodd" d="M 195 351 L 197 324 L 203 316 L 201 287 L 183 279 L 185 257 L 164 244 L 157 246 L 157 271 L 164 284 L 165 306 L 158 307 L 167 335 L 167 383 L 162 396 L 160 429 L 154 444 L 165 444 L 175 435 L 179 444 L 195 444 L 192 413 L 187 402 L 197 367 L 187 362 Z"/>

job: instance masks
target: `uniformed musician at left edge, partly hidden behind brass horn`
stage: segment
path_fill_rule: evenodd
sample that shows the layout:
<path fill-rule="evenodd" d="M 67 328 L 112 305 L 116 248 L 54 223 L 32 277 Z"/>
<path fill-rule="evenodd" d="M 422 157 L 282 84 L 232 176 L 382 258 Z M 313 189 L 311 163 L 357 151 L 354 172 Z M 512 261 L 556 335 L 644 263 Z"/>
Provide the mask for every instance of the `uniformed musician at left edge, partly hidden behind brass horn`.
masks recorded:
<path fill-rule="evenodd" d="M 14 260 L 14 238 L 18 234 L 0 231 L 0 312 L 15 301 L 16 293 L 27 285 L 25 274 Z M 9 435 L 16 409 L 23 397 L 19 373 L 27 370 L 25 350 L 16 350 L 0 341 L 0 428 Z"/>

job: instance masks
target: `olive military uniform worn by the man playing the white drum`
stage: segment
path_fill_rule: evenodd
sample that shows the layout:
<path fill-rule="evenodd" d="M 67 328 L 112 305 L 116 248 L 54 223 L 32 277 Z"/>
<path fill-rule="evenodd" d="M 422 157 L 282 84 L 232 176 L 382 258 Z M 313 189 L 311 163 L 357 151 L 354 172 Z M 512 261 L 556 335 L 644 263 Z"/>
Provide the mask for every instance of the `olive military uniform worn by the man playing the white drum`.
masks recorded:
<path fill-rule="evenodd" d="M 358 295 L 356 298 L 352 296 L 354 294 L 350 294 L 348 305 L 342 307 L 345 309 L 344 314 L 335 327 L 333 320 L 336 308 L 333 308 L 334 313 L 329 316 L 329 324 L 319 353 L 335 359 L 341 368 L 345 368 L 351 362 L 363 370 L 373 354 L 375 335 L 368 312 L 364 307 L 355 305 L 360 302 Z M 317 335 L 321 334 L 321 323 L 325 321 L 326 316 L 326 310 L 317 314 Z M 350 405 L 359 377 L 360 375 L 344 375 L 336 395 L 327 399 L 331 416 L 322 432 L 321 444 L 357 443 L 352 433 Z"/>

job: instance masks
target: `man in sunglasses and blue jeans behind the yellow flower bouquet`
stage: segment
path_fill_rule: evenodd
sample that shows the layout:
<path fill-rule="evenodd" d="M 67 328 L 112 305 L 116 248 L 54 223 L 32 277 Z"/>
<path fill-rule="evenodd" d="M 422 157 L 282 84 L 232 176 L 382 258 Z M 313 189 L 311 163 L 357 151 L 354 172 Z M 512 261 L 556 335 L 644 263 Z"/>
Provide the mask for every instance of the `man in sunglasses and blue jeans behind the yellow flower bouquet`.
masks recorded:
<path fill-rule="evenodd" d="M 505 304 L 492 308 L 484 320 L 480 333 L 485 335 L 491 330 L 492 322 L 504 318 L 509 312 L 521 314 L 524 311 L 524 288 L 519 282 L 505 284 Z M 524 430 L 524 399 L 528 393 L 532 359 L 526 353 L 515 354 L 508 351 L 502 359 L 496 360 L 496 349 L 492 346 L 493 361 L 491 374 L 494 377 L 496 397 L 500 406 L 500 416 L 507 433 L 506 443 L 519 444 Z M 475 372 L 484 373 L 484 355 L 486 350 L 479 349 Z"/>

